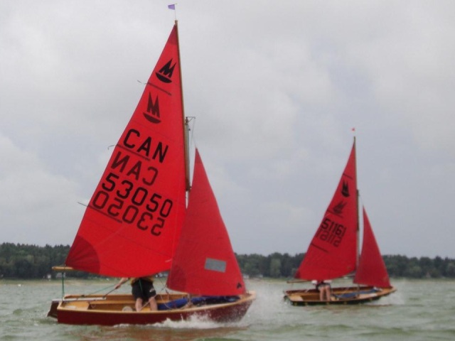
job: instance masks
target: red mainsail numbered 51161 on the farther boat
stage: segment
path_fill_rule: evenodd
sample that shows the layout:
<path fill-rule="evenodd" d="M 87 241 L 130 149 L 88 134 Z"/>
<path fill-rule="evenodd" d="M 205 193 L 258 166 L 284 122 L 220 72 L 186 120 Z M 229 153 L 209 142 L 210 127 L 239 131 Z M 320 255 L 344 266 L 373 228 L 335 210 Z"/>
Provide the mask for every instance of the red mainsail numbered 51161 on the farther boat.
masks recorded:
<path fill-rule="evenodd" d="M 358 211 L 355 143 L 321 225 L 295 278 L 324 280 L 355 271 Z"/>

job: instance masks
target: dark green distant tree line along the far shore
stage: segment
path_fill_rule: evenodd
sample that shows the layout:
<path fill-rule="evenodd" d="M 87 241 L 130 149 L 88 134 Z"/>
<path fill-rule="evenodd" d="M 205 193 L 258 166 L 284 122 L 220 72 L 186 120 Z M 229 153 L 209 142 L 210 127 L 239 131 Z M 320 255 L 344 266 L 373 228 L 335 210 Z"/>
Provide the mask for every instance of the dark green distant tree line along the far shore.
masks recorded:
<path fill-rule="evenodd" d="M 0 244 L 0 278 L 47 278 L 55 277 L 52 267 L 63 265 L 70 247 L 57 245 Z M 304 254 L 237 254 L 242 274 L 250 277 L 291 278 L 299 267 Z M 455 278 L 455 259 L 384 256 L 385 266 L 391 277 L 407 278 Z M 93 276 L 77 271 L 67 276 L 87 278 Z"/>

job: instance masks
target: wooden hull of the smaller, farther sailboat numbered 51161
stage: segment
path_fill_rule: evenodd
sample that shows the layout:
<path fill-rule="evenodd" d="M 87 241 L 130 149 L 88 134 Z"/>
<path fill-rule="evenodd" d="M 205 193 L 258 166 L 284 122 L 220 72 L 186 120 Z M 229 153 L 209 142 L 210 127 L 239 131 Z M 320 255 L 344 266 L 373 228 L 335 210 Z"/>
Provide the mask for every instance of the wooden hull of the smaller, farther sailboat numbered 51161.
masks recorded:
<path fill-rule="evenodd" d="M 368 303 L 379 300 L 397 291 L 396 288 L 373 288 L 372 286 L 349 286 L 332 288 L 331 301 L 320 301 L 316 289 L 288 290 L 284 292 L 284 300 L 291 305 L 347 305 Z"/>

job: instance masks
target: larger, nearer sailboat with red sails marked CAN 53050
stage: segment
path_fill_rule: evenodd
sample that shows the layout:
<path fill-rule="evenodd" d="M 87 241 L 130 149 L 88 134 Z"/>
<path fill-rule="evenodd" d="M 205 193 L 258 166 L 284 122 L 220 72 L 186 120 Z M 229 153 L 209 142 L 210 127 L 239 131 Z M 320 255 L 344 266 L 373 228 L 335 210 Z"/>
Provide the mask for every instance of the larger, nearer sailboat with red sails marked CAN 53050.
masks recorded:
<path fill-rule="evenodd" d="M 115 277 L 168 271 L 172 293 L 156 296 L 158 310 L 140 311 L 132 294 L 65 295 L 48 315 L 59 323 L 118 325 L 193 316 L 236 321 L 247 313 L 255 293 L 245 288 L 197 148 L 190 186 L 187 136 L 176 22 L 64 268 Z"/>

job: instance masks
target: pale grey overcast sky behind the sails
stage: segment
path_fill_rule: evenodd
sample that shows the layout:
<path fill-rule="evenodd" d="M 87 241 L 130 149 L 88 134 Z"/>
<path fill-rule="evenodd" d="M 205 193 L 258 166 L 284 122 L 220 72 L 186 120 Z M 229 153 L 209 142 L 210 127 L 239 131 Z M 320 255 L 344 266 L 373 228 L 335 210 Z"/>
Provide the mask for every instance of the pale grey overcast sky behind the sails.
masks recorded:
<path fill-rule="evenodd" d="M 0 242 L 73 242 L 176 15 L 237 253 L 306 251 L 355 127 L 382 254 L 455 257 L 455 1 L 168 4 L 0 2 Z"/>

